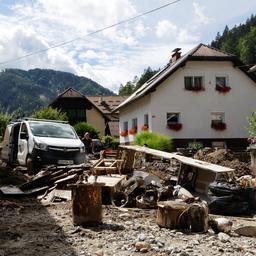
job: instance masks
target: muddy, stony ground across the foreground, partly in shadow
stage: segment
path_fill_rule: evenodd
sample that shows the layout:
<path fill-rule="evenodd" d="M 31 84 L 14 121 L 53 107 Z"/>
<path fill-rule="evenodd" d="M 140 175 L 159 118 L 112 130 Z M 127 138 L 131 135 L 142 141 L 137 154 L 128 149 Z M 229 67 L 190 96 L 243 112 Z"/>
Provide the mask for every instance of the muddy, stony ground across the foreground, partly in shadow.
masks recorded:
<path fill-rule="evenodd" d="M 230 217 L 234 227 L 256 218 Z M 138 243 L 140 242 L 140 243 Z M 137 243 L 137 244 L 136 244 Z M 137 246 L 137 249 L 135 247 Z M 139 248 L 145 248 L 139 252 Z M 0 199 L 0 255 L 255 255 L 256 238 L 159 228 L 155 210 L 103 206 L 103 224 L 73 226 L 71 202 Z"/>

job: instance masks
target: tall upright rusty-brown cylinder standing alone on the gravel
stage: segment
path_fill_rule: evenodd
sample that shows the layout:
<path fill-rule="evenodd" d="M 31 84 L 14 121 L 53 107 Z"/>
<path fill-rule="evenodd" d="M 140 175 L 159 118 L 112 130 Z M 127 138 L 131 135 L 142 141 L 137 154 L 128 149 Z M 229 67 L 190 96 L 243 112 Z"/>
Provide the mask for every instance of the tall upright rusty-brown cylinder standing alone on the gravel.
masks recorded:
<path fill-rule="evenodd" d="M 75 226 L 95 226 L 102 223 L 101 183 L 70 184 L 72 216 Z"/>

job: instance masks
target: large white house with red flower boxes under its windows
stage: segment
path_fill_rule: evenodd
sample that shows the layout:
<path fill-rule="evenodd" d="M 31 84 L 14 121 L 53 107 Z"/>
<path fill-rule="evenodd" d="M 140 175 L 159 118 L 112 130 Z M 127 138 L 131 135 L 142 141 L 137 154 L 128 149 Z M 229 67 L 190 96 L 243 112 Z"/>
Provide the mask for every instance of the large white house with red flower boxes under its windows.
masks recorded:
<path fill-rule="evenodd" d="M 116 109 L 120 142 L 136 132 L 173 138 L 176 147 L 247 146 L 247 117 L 256 110 L 256 77 L 234 55 L 204 44 L 181 56 L 173 51 L 167 66 Z"/>

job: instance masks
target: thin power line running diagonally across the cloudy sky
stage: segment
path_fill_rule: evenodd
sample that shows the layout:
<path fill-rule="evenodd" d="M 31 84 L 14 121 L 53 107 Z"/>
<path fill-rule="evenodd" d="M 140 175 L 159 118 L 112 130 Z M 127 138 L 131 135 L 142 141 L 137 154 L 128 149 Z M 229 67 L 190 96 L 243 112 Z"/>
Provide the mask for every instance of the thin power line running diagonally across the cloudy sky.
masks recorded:
<path fill-rule="evenodd" d="M 101 28 L 101 29 L 95 30 L 95 31 L 93 31 L 93 32 L 90 32 L 90 33 L 84 35 L 83 37 L 76 37 L 76 38 L 74 38 L 74 39 L 72 39 L 72 40 L 64 41 L 64 42 L 61 42 L 61 43 L 59 43 L 59 44 L 55 44 L 55 45 L 52 45 L 52 46 L 50 46 L 50 47 L 47 47 L 47 48 L 45 48 L 45 49 L 37 50 L 37 51 L 28 53 L 28 54 L 26 54 L 26 55 L 23 55 L 23 56 L 14 58 L 14 59 L 10 59 L 10 60 L 4 61 L 4 62 L 0 62 L 0 65 L 4 65 L 4 64 L 10 63 L 10 62 L 17 61 L 17 60 L 22 60 L 22 59 L 28 58 L 28 57 L 30 57 L 30 56 L 33 56 L 33 55 L 37 55 L 37 54 L 40 54 L 40 53 L 43 53 L 43 52 L 47 52 L 47 51 L 49 51 L 49 50 L 51 50 L 51 49 L 54 49 L 54 48 L 58 48 L 58 47 L 62 47 L 62 46 L 67 45 L 67 44 L 71 44 L 71 43 L 73 43 L 73 42 L 75 42 L 75 41 L 77 41 L 77 40 L 79 40 L 79 39 L 84 39 L 85 37 L 95 35 L 95 34 L 97 34 L 97 33 L 100 33 L 100 32 L 102 32 L 102 31 L 105 31 L 105 30 L 107 30 L 107 29 L 110 29 L 110 28 L 113 28 L 113 27 L 122 25 L 122 24 L 124 24 L 124 23 L 131 22 L 131 21 L 136 20 L 136 19 L 138 19 L 138 18 L 140 18 L 140 17 L 142 17 L 142 16 L 148 15 L 148 14 L 153 13 L 153 12 L 156 12 L 156 11 L 159 11 L 159 10 L 161 10 L 161 9 L 163 9 L 163 8 L 166 8 L 166 7 L 168 7 L 168 6 L 172 5 L 172 4 L 176 4 L 176 3 L 180 2 L 180 1 L 182 1 L 182 0 L 175 0 L 175 1 L 169 2 L 169 3 L 167 3 L 167 4 L 164 4 L 164 5 L 159 6 L 159 7 L 157 7 L 157 8 L 154 8 L 154 9 L 151 9 L 151 10 L 149 10 L 149 11 L 143 12 L 143 13 L 137 15 L 137 16 L 134 16 L 134 17 L 131 17 L 131 18 L 128 18 L 128 19 L 119 21 L 119 22 L 114 23 L 114 24 L 112 24 L 112 25 L 109 25 L 109 26 L 103 27 L 103 28 Z"/>

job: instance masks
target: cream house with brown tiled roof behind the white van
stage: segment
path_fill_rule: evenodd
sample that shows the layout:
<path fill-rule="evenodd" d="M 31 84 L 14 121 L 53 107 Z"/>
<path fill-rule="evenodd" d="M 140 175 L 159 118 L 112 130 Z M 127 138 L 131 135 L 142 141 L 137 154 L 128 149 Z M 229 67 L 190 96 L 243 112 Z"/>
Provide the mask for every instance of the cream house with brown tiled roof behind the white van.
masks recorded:
<path fill-rule="evenodd" d="M 101 136 L 119 137 L 119 113 L 112 110 L 127 97 L 122 96 L 85 96 L 79 91 L 68 88 L 50 104 L 67 113 L 69 122 L 87 122 L 93 125 Z"/>

